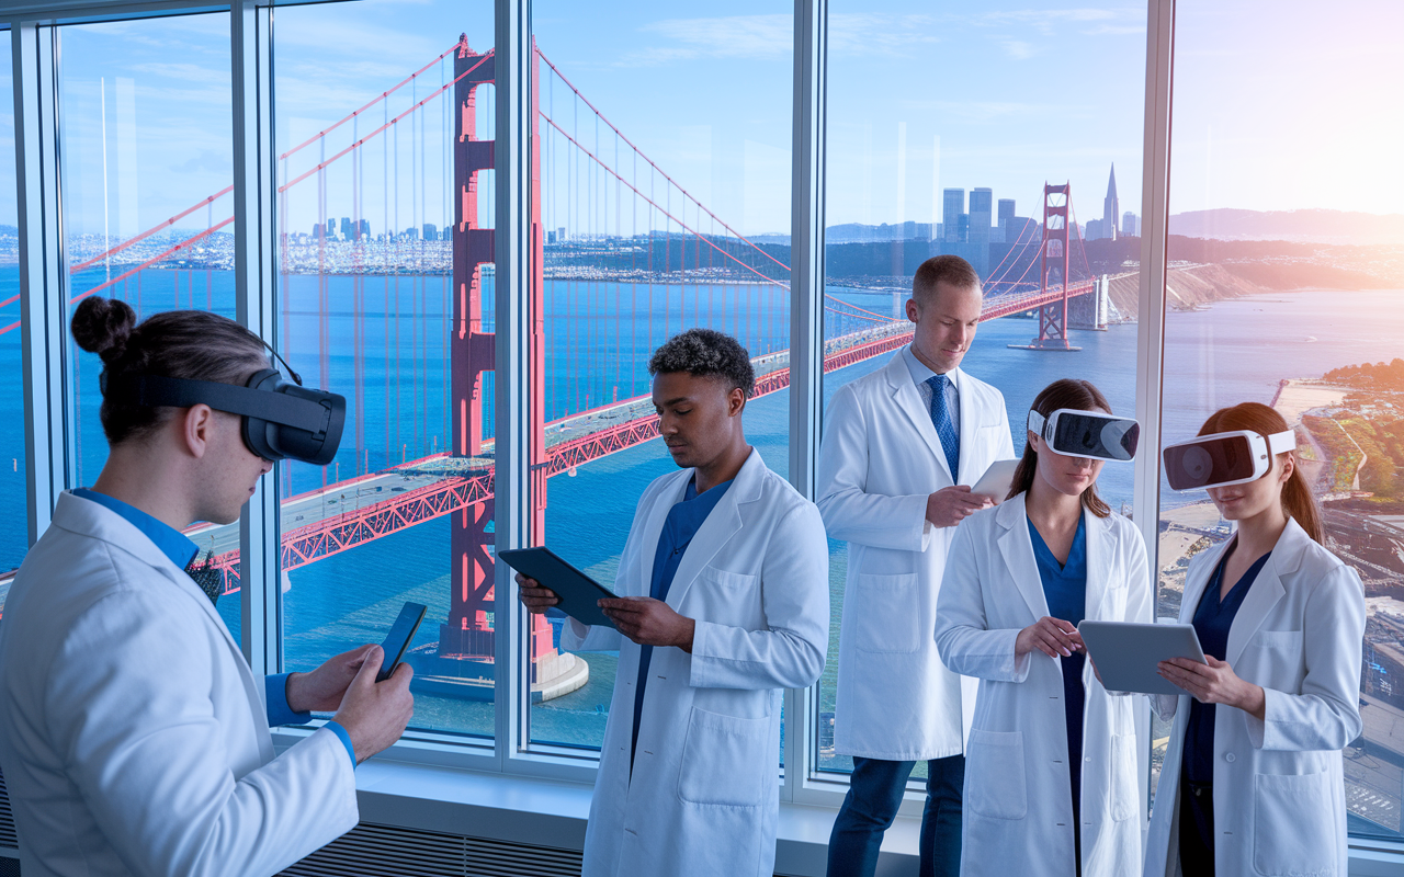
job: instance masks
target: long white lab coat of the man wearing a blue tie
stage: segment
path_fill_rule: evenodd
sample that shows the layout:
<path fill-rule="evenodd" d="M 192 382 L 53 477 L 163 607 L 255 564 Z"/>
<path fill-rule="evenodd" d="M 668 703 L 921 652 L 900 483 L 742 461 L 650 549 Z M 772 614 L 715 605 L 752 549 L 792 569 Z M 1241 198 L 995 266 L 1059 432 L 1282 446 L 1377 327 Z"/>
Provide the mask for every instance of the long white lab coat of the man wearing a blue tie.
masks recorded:
<path fill-rule="evenodd" d="M 828 403 L 819 452 L 819 511 L 848 542 L 838 636 L 834 749 L 883 761 L 960 755 L 976 682 L 941 662 L 931 631 L 946 551 L 958 528 L 927 522 L 927 497 L 973 484 L 1014 456 L 1004 397 L 958 369 L 960 471 L 952 477 L 899 351 Z"/>

